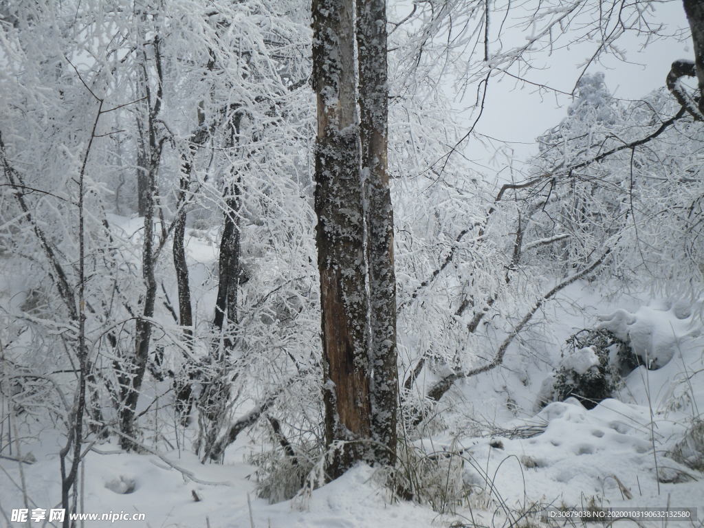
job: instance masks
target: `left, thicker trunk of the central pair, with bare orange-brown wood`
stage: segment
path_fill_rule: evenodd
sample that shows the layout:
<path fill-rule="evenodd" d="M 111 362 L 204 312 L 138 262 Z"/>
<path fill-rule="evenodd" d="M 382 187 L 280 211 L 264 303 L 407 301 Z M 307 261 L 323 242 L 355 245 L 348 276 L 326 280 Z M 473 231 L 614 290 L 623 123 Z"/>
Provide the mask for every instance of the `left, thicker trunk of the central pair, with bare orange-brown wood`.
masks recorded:
<path fill-rule="evenodd" d="M 316 241 L 322 308 L 325 435 L 335 448 L 327 466 L 339 477 L 368 458 L 369 339 L 366 263 L 355 101 L 353 0 L 313 0 Z"/>

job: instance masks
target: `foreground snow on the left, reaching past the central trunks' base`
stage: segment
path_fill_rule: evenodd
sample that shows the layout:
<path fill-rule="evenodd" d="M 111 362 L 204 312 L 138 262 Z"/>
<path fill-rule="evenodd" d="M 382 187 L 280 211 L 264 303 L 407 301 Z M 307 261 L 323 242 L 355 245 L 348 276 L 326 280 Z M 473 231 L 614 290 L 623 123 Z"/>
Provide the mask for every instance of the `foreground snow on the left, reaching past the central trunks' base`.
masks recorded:
<path fill-rule="evenodd" d="M 56 441 L 59 439 L 57 438 Z M 25 479 L 29 496 L 37 507 L 54 508 L 60 485 L 56 472 L 56 447 L 50 442 L 34 444 L 44 452 L 36 464 L 25 465 Z M 193 482 L 172 470 L 154 455 L 139 455 L 115 451 L 113 446 L 101 446 L 101 453 L 90 452 L 84 459 L 86 475 L 85 511 L 146 513 L 146 523 L 117 521 L 115 527 L 249 527 L 250 515 L 256 527 L 344 527 L 366 528 L 383 525 L 403 528 L 413 525 L 429 526 L 436 513 L 413 503 L 391 501 L 389 491 L 379 484 L 375 470 L 360 465 L 340 479 L 316 489 L 303 492 L 291 501 L 269 504 L 256 497 L 251 475 L 255 467 L 241 462 L 225 465 L 201 465 L 188 453 L 181 453 L 177 464 L 197 474 L 201 480 L 220 482 L 208 485 Z M 172 453 L 176 455 L 176 453 Z M 4 464 L 4 469 L 18 478 L 16 465 Z M 18 489 L 11 489 L 6 475 L 0 479 L 0 505 L 9 514 L 12 508 L 21 508 Z M 125 494 L 114 491 L 112 484 L 133 480 L 135 489 Z M 10 484 L 10 486 L 8 486 Z M 194 499 L 195 496 L 199 501 Z M 30 505 L 30 508 L 33 508 Z M 377 524 L 379 523 L 379 524 Z M 92 523 L 87 522 L 87 526 Z M 94 524 L 99 525 L 99 524 Z M 8 526 L 20 526 L 11 523 Z"/>

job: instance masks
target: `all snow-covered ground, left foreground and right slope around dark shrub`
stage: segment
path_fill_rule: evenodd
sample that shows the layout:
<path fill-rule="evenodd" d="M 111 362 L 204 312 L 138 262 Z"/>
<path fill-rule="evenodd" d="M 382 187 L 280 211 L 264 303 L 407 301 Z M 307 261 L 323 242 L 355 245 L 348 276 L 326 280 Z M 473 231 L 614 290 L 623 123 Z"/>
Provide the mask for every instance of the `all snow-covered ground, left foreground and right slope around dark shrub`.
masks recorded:
<path fill-rule="evenodd" d="M 523 517 L 527 512 L 595 505 L 698 508 L 704 518 L 702 474 L 670 456 L 704 408 L 704 337 L 697 306 L 652 302 L 638 307 L 631 300 L 622 305 L 627 308 L 614 310 L 616 301 L 608 305 L 583 285 L 566 295 L 579 298 L 582 306 L 593 306 L 591 313 L 573 313 L 566 302 L 553 304 L 544 317 L 558 322 L 541 327 L 546 336 L 542 350 L 533 346 L 528 354 L 528 341 L 516 344 L 503 368 L 458 384 L 442 404 L 447 408 L 445 429 L 412 442 L 417 451 L 436 458 L 446 452 L 439 455 L 448 459 L 439 465 L 446 471 L 446 486 L 464 490 L 443 514 L 427 504 L 399 499 L 382 484 L 379 473 L 366 466 L 313 491 L 306 489 L 291 501 L 269 504 L 257 497 L 256 467 L 247 463 L 258 446 L 253 437 L 241 435 L 228 449 L 224 465 L 202 465 L 184 448 L 134 454 L 111 444 L 95 445 L 81 468 L 80 509 L 144 513 L 146 520 L 85 521 L 85 526 L 535 525 L 546 518 L 538 513 Z M 595 317 L 600 310 L 603 317 Z M 618 398 L 591 410 L 570 398 L 536 412 L 543 379 L 565 362 L 560 343 L 586 322 L 599 320 L 663 366 L 636 368 Z M 35 461 L 20 465 L 0 460 L 0 510 L 8 526 L 23 525 L 10 522 L 11 510 L 49 510 L 60 498 L 61 435 L 49 425 L 39 432 L 37 423 L 22 427 L 28 436 L 20 455 Z M 12 456 L 17 455 L 13 451 Z"/>

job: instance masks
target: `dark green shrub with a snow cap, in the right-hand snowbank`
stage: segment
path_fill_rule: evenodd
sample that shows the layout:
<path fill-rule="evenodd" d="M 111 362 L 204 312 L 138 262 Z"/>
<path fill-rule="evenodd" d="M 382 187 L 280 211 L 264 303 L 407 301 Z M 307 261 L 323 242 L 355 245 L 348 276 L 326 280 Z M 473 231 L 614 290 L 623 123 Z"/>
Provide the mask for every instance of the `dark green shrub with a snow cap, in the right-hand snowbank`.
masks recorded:
<path fill-rule="evenodd" d="M 581 330 L 566 344 L 558 370 L 543 382 L 539 406 L 574 397 L 591 409 L 610 398 L 620 384 L 620 372 L 632 364 L 627 344 L 603 329 Z"/>

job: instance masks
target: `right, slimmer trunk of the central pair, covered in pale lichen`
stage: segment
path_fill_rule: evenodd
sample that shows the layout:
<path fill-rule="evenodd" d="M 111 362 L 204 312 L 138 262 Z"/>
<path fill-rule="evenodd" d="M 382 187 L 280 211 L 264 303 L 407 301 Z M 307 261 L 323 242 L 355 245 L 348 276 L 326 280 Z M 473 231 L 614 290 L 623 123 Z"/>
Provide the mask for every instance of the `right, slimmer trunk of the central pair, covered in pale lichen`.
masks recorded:
<path fill-rule="evenodd" d="M 375 461 L 394 465 L 398 369 L 394 209 L 386 170 L 388 87 L 385 0 L 357 0 L 357 46 L 370 287 L 372 439 L 375 441 Z"/>

